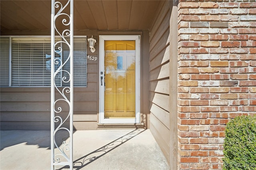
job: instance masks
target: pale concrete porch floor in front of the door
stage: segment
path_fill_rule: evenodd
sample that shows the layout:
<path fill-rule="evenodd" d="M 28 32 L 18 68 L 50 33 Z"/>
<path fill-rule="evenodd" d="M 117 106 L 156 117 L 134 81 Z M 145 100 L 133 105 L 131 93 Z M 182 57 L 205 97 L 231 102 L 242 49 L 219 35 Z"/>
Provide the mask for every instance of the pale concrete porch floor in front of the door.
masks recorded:
<path fill-rule="evenodd" d="M 50 170 L 50 131 L 1 131 L 0 137 L 1 170 Z M 74 170 L 169 170 L 149 129 L 74 131 L 73 161 Z"/>

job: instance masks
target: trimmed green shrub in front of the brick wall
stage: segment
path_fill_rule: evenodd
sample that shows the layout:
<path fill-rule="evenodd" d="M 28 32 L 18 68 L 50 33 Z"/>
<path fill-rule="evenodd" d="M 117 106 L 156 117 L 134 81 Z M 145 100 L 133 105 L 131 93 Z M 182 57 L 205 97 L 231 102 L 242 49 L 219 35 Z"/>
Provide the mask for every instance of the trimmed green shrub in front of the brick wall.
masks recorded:
<path fill-rule="evenodd" d="M 256 170 L 256 116 L 239 116 L 226 126 L 223 170 Z"/>

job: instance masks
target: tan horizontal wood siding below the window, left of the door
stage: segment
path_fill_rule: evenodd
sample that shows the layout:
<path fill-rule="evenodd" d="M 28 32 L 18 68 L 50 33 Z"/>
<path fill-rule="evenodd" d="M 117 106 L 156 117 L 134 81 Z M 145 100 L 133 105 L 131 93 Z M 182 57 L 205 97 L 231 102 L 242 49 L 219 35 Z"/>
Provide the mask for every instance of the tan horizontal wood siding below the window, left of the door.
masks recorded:
<path fill-rule="evenodd" d="M 87 88 L 74 88 L 76 130 L 96 129 L 95 86 L 97 83 L 88 83 Z M 1 129 L 50 130 L 50 98 L 50 88 L 1 88 Z M 67 109 L 65 105 L 63 109 Z"/>

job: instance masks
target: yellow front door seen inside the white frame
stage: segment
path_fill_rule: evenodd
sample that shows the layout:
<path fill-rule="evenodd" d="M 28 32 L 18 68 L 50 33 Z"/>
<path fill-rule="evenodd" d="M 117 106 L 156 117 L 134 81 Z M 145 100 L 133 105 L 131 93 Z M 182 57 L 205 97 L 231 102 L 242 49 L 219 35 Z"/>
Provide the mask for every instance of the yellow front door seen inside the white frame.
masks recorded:
<path fill-rule="evenodd" d="M 104 118 L 135 118 L 135 40 L 104 41 Z"/>

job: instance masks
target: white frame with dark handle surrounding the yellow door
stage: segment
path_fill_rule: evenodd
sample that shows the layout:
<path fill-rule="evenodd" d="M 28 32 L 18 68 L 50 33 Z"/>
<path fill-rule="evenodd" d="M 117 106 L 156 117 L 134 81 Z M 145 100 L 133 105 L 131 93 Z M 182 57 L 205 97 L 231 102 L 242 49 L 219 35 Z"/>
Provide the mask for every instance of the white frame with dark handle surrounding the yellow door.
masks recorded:
<path fill-rule="evenodd" d="M 100 107 L 99 123 L 140 123 L 140 35 L 100 35 Z M 104 118 L 104 41 L 105 40 L 135 40 L 135 119 L 105 119 Z"/>

